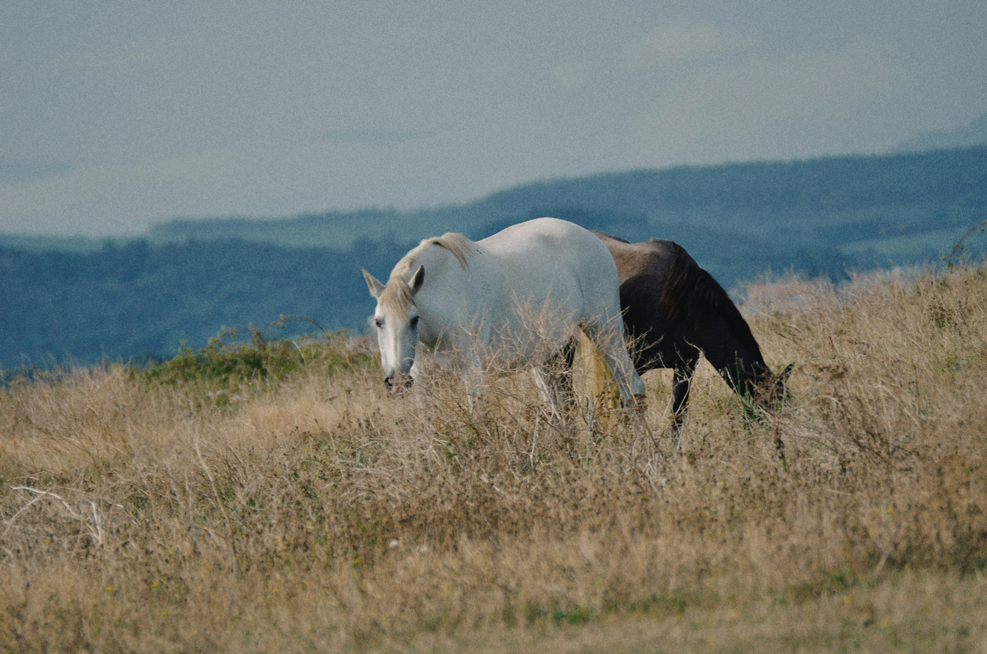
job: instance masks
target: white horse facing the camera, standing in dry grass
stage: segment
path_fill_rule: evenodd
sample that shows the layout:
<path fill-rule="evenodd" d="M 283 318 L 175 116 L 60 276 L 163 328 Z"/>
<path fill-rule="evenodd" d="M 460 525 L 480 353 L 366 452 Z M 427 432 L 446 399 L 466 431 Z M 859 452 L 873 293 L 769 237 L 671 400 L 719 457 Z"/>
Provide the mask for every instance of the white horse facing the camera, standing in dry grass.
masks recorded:
<path fill-rule="evenodd" d="M 580 328 L 606 360 L 624 406 L 644 398 L 625 346 L 617 267 L 606 245 L 574 223 L 537 218 L 476 242 L 446 233 L 421 241 L 387 284 L 366 270 L 363 277 L 377 299 L 371 320 L 392 389 L 418 377 L 424 346 L 439 356 L 459 353 L 468 386 L 493 357 L 507 368 L 533 366 L 543 397 L 556 406 L 546 365 Z M 471 399 L 478 387 L 470 387 Z"/>

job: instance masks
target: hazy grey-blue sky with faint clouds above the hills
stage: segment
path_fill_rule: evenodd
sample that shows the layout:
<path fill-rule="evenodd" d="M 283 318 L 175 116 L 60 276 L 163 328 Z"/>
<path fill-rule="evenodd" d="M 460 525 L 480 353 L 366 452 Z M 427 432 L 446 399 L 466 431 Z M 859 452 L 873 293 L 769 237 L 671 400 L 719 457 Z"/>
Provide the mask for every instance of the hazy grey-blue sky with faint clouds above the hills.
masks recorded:
<path fill-rule="evenodd" d="M 983 0 L 0 4 L 0 231 L 882 152 L 987 111 Z"/>

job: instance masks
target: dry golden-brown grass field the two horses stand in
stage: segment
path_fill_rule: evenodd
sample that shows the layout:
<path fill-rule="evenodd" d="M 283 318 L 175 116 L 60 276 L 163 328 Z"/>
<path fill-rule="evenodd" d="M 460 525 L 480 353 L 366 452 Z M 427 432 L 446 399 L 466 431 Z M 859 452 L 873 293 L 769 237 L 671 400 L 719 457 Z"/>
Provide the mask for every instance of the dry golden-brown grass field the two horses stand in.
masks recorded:
<path fill-rule="evenodd" d="M 0 651 L 987 651 L 987 268 L 742 309 L 789 402 L 701 368 L 680 452 L 667 374 L 652 440 L 340 338 L 15 381 Z"/>

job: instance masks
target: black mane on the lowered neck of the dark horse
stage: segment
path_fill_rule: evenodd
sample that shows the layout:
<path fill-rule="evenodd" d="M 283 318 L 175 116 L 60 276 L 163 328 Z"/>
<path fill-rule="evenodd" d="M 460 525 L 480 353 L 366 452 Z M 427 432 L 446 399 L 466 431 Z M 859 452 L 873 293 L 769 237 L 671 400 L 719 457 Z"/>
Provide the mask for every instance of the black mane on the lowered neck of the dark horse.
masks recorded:
<path fill-rule="evenodd" d="M 752 352 L 760 354 L 761 348 L 750 331 L 747 321 L 726 290 L 712 275 L 700 268 L 678 243 L 668 277 L 661 289 L 658 303 L 672 320 L 683 320 L 692 329 L 699 329 L 707 320 L 719 317 L 726 321 L 734 336 Z"/>

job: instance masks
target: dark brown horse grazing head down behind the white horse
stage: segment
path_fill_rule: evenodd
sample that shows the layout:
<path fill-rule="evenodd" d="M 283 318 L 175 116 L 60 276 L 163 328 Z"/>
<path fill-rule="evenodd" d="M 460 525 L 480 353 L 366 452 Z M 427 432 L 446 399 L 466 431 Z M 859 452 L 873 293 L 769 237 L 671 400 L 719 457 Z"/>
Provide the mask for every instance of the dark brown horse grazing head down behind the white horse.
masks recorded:
<path fill-rule="evenodd" d="M 613 255 L 635 368 L 673 368 L 672 416 L 681 427 L 689 382 L 703 354 L 745 400 L 771 407 L 785 394 L 792 366 L 774 374 L 750 327 L 713 276 L 681 245 L 652 238 L 630 243 L 594 231 Z"/>

